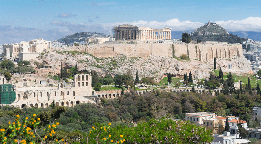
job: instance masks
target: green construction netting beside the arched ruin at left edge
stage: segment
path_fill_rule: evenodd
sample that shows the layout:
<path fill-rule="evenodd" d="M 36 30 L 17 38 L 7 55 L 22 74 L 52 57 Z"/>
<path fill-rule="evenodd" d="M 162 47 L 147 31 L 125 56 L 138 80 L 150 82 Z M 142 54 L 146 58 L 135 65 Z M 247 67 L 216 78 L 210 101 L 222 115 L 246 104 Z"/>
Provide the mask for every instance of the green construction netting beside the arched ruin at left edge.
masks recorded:
<path fill-rule="evenodd" d="M 16 100 L 16 92 L 12 84 L 0 85 L 0 104 L 10 104 Z"/>

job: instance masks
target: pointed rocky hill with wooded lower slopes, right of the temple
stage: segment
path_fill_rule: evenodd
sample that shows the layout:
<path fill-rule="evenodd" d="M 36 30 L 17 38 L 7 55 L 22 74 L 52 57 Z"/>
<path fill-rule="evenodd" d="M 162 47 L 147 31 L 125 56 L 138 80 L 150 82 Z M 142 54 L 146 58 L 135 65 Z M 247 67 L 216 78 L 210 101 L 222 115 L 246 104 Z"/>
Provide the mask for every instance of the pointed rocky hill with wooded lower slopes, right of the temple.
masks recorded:
<path fill-rule="evenodd" d="M 223 27 L 211 21 L 191 32 L 191 40 L 197 41 L 197 39 L 201 41 L 222 41 L 228 44 L 245 41 L 237 35 L 229 34 Z"/>

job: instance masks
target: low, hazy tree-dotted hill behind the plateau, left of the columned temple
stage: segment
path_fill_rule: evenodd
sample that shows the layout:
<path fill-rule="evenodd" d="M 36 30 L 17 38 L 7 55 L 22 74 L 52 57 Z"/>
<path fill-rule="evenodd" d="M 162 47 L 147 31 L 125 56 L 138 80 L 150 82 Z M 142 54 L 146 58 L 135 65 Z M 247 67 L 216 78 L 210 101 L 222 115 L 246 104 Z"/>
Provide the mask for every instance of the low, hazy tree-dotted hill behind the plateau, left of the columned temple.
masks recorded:
<path fill-rule="evenodd" d="M 71 35 L 67 35 L 63 38 L 60 38 L 58 40 L 55 40 L 60 43 L 64 44 L 72 44 L 73 42 L 79 42 L 79 41 L 85 41 L 85 38 L 88 37 L 97 37 L 97 38 L 103 38 L 106 37 L 107 35 L 104 33 L 97 33 L 97 32 L 77 32 Z"/>

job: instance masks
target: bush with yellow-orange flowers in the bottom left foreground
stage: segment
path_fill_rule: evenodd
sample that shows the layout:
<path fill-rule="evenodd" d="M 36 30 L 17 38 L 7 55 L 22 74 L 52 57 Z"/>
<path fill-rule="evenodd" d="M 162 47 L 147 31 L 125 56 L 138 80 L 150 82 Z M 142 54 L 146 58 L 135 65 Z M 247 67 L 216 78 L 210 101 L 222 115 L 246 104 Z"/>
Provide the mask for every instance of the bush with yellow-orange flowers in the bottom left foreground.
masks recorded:
<path fill-rule="evenodd" d="M 6 144 L 6 143 L 23 143 L 23 144 L 34 144 L 34 143 L 55 143 L 55 144 L 61 144 L 65 143 L 64 139 L 56 139 L 56 140 L 46 140 L 48 137 L 53 137 L 53 134 L 55 134 L 55 127 L 59 125 L 59 123 L 53 124 L 52 126 L 48 125 L 44 129 L 44 136 L 40 137 L 39 134 L 36 131 L 36 128 L 41 123 L 40 118 L 35 117 L 36 114 L 33 114 L 33 116 L 29 119 L 28 117 L 24 118 L 24 120 L 20 121 L 20 116 L 16 115 L 15 122 L 8 123 L 7 129 L 0 129 L 0 144 Z"/>

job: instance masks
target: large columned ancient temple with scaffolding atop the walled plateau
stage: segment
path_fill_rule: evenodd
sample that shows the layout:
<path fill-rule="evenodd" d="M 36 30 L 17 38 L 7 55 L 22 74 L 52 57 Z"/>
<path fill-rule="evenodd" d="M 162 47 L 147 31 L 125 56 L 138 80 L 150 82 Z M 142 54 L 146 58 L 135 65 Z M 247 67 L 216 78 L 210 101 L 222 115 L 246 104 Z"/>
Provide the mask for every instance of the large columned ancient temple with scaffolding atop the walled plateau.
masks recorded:
<path fill-rule="evenodd" d="M 119 40 L 170 40 L 171 28 L 153 29 L 123 24 L 114 27 L 115 41 Z"/>

